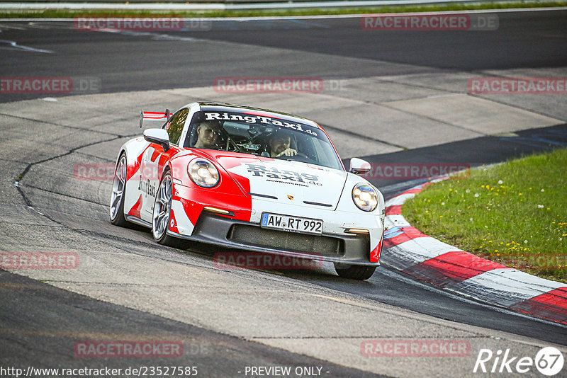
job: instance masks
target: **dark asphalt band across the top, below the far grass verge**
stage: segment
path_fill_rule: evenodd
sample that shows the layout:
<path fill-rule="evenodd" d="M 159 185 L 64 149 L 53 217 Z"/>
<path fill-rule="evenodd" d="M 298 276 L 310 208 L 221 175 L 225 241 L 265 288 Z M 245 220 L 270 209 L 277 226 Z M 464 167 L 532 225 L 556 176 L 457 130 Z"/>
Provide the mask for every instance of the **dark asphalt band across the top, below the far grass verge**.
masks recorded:
<path fill-rule="evenodd" d="M 498 30 L 363 30 L 359 17 L 269 21 L 213 21 L 207 31 L 92 33 L 73 23 L 32 23 L 2 28 L 2 76 L 94 76 L 104 92 L 212 86 L 218 76 L 316 76 L 323 79 L 402 75 L 398 66 L 345 67 L 332 57 L 415 64 L 437 69 L 476 71 L 562 67 L 567 62 L 567 11 L 498 13 Z M 4 23 L 6 24 L 6 23 Z M 17 25 L 17 23 L 16 23 Z M 149 37 L 149 38 L 148 38 Z M 148 40 L 149 39 L 149 40 Z M 254 55 L 211 47 L 193 40 L 220 40 L 249 46 L 288 49 L 289 55 Z M 18 45 L 54 51 L 31 53 Z M 158 43 L 156 43 L 156 41 Z M 319 53 L 328 59 L 303 52 Z M 415 69 L 411 70 L 415 72 Z M 0 102 L 38 95 L 0 96 Z"/>

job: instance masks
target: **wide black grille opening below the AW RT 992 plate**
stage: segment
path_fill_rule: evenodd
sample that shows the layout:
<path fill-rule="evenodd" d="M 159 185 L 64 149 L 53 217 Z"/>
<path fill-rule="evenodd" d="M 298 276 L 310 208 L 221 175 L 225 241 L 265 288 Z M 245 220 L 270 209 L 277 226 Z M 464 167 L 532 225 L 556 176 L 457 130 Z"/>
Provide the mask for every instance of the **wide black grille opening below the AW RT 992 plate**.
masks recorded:
<path fill-rule="evenodd" d="M 344 256 L 344 241 L 322 235 L 262 229 L 246 224 L 233 224 L 227 239 L 249 246 L 274 248 L 281 251 L 309 253 L 320 256 Z"/>

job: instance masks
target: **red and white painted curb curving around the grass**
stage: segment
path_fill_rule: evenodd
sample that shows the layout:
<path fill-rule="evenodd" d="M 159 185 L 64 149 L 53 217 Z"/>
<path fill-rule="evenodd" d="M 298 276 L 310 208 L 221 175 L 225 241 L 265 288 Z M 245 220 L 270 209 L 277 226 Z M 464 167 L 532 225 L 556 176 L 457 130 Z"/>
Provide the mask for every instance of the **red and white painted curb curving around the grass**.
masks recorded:
<path fill-rule="evenodd" d="M 567 324 L 567 285 L 449 246 L 422 234 L 405 220 L 403 203 L 432 182 L 417 185 L 386 201 L 388 229 L 384 233 L 381 261 L 444 290 Z"/>

